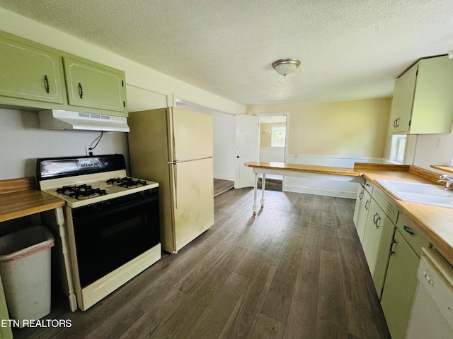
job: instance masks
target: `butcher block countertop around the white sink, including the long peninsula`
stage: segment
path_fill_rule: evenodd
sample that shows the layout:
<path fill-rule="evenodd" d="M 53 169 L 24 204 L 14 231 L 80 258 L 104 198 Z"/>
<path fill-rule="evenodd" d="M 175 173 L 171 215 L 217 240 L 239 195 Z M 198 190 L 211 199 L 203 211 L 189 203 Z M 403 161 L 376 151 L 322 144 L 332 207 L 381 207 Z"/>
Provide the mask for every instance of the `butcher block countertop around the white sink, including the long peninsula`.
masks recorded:
<path fill-rule="evenodd" d="M 436 172 L 409 165 L 384 165 L 361 162 L 356 162 L 353 168 L 297 165 L 283 162 L 247 162 L 245 165 L 263 169 L 363 176 L 386 194 L 389 201 L 392 201 L 398 210 L 411 220 L 413 227 L 418 229 L 435 246 L 437 251 L 453 265 L 453 208 L 398 200 L 374 181 L 375 179 L 391 179 L 438 184 L 437 179 L 439 179 L 440 174 Z M 449 171 L 446 170 L 445 172 Z"/>

